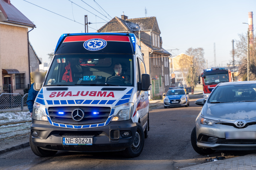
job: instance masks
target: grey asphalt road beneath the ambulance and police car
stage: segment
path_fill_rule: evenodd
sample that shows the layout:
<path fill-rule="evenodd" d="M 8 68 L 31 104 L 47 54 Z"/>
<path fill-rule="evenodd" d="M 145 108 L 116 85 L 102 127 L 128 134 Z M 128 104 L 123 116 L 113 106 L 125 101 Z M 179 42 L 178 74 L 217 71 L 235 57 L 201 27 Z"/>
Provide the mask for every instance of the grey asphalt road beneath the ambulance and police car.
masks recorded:
<path fill-rule="evenodd" d="M 207 155 L 197 154 L 190 144 L 190 134 L 201 110 L 190 99 L 189 107 L 164 109 L 157 106 L 150 114 L 149 137 L 142 154 L 122 157 L 119 152 L 57 152 L 54 157 L 37 157 L 30 147 L 0 155 L 0 169 L 179 169 L 206 162 Z M 18 143 L 19 141 L 17 141 Z M 227 152 L 229 157 L 249 152 Z M 221 156 L 221 152 L 210 155 Z"/>

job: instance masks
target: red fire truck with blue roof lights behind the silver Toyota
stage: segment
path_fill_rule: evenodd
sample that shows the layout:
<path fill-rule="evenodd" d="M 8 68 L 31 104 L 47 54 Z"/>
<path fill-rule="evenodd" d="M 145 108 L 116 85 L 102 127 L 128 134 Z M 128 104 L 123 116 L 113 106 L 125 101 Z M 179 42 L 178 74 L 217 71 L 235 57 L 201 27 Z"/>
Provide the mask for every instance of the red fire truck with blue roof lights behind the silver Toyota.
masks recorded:
<path fill-rule="evenodd" d="M 211 68 L 204 69 L 202 75 L 198 77 L 199 84 L 201 84 L 200 77 L 202 77 L 203 81 L 203 94 L 205 100 L 207 100 L 211 91 L 214 87 L 221 82 L 231 82 L 234 81 L 234 73 L 231 74 L 229 69 L 225 68 Z"/>

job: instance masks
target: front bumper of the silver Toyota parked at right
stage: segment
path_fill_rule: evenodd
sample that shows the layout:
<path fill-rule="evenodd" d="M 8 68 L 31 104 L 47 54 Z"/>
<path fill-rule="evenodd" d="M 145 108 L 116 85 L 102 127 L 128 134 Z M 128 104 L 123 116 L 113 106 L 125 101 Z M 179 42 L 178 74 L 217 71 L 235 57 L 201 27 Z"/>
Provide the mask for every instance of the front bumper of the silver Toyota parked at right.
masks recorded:
<path fill-rule="evenodd" d="M 234 126 L 196 123 L 197 146 L 213 150 L 256 150 L 256 139 L 226 139 L 225 132 L 253 132 L 256 125 L 238 129 Z"/>

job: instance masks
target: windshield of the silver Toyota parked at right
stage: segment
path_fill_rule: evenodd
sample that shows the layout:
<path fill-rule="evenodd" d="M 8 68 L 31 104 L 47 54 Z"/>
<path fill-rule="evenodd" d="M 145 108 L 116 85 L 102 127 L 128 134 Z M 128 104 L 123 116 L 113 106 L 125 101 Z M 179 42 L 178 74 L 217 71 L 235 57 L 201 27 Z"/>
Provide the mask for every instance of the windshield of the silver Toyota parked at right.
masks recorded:
<path fill-rule="evenodd" d="M 208 99 L 208 103 L 240 102 L 256 100 L 256 84 L 217 86 Z"/>

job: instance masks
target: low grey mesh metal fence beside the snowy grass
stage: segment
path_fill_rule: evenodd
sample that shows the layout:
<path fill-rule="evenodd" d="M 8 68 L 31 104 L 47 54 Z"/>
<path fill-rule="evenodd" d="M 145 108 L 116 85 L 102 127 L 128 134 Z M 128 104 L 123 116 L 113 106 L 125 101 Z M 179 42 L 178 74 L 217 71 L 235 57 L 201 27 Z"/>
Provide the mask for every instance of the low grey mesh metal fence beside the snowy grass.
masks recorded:
<path fill-rule="evenodd" d="M 1 93 L 0 94 L 0 112 L 1 111 L 24 111 L 28 110 L 28 93 L 21 95 L 19 93 Z"/>

